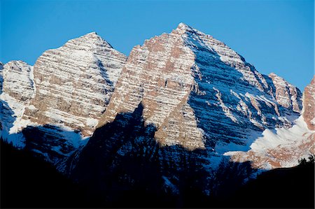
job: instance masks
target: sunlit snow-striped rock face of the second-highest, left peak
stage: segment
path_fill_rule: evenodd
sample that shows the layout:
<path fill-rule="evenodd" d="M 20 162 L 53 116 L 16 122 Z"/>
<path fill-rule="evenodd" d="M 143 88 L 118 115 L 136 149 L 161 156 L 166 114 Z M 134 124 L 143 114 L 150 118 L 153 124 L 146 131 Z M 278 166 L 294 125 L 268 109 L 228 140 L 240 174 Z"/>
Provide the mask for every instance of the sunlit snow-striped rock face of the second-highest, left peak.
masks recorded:
<path fill-rule="evenodd" d="M 36 95 L 25 117 L 90 136 L 106 110 L 126 57 L 95 33 L 47 50 L 34 65 Z"/>

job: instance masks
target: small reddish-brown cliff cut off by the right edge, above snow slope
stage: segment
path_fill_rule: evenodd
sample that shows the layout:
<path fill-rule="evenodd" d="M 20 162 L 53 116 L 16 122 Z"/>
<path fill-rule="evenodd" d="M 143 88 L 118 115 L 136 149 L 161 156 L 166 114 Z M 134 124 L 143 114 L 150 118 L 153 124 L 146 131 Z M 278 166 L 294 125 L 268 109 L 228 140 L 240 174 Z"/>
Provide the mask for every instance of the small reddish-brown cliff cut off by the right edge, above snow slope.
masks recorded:
<path fill-rule="evenodd" d="M 303 93 L 303 117 L 310 130 L 315 131 L 315 76 Z"/>

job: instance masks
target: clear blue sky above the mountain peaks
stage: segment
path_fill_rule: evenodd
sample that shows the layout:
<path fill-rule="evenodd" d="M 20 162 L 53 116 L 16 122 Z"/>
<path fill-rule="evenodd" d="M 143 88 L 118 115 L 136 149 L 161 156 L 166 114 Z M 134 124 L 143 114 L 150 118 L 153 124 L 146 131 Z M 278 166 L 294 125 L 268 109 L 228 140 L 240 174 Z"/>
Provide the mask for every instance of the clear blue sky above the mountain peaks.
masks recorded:
<path fill-rule="evenodd" d="M 96 31 L 129 55 L 185 22 L 223 41 L 260 73 L 303 89 L 314 75 L 314 1 L 1 1 L 0 61 L 34 64 L 45 50 Z"/>

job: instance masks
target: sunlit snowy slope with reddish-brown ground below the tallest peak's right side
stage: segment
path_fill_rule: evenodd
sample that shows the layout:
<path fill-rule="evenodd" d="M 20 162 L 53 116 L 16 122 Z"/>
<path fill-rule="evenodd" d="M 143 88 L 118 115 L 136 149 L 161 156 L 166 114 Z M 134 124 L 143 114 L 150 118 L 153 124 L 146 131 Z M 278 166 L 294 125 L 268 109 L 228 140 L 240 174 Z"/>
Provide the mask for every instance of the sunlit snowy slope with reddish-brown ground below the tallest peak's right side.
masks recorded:
<path fill-rule="evenodd" d="M 302 158 L 315 154 L 315 131 L 310 131 L 303 117 L 289 129 L 266 129 L 247 152 L 226 152 L 232 161 L 251 161 L 252 166 L 265 170 L 290 168 Z"/>

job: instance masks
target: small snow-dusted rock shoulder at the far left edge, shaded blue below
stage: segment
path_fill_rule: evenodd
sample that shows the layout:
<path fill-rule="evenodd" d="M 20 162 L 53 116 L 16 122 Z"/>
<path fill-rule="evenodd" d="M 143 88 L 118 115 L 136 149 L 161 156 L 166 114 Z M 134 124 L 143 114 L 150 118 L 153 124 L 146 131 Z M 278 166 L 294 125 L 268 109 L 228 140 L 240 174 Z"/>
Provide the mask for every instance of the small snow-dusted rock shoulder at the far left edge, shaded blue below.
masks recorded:
<path fill-rule="evenodd" d="M 20 133 L 22 115 L 34 97 L 33 67 L 22 61 L 11 61 L 3 66 L 1 82 L 1 136 L 15 147 L 25 146 Z"/>

